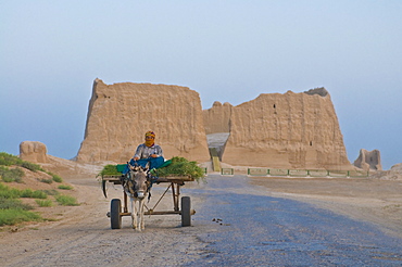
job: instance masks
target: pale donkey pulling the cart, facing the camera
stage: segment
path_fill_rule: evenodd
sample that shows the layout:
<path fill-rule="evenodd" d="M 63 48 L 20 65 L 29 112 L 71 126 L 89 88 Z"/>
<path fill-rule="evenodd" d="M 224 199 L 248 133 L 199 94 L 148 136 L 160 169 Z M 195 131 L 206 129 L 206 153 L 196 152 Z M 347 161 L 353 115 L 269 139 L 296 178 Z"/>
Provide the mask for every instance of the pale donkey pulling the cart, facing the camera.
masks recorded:
<path fill-rule="evenodd" d="M 130 213 L 133 229 L 141 231 L 146 228 L 143 224 L 143 206 L 149 193 L 150 181 L 148 180 L 148 168 L 129 165 L 128 179 L 123 182 L 125 193 L 130 199 Z M 138 206 L 137 206 L 138 202 Z"/>

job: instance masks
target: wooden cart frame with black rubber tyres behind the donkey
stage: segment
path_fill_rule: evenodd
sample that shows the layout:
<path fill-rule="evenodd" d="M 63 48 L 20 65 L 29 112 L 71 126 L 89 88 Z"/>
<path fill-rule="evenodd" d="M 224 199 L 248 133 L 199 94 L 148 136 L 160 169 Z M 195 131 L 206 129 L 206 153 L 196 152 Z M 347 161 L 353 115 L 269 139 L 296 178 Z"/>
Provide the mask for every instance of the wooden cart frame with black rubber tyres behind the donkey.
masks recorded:
<path fill-rule="evenodd" d="M 180 187 L 185 185 L 185 181 L 193 181 L 194 179 L 190 176 L 167 176 L 158 177 L 155 183 L 167 183 L 166 190 L 156 201 L 153 207 L 146 207 L 145 215 L 168 215 L 176 214 L 181 215 L 181 226 L 191 226 L 191 215 L 196 214 L 194 209 L 191 209 L 190 196 L 183 196 L 179 202 Z M 102 190 L 105 198 L 106 195 L 106 182 L 113 185 L 122 185 L 121 176 L 102 176 Z M 155 211 L 158 204 L 166 195 L 166 193 L 172 190 L 173 195 L 173 211 Z M 123 191 L 123 204 L 121 199 L 113 199 L 110 205 L 110 212 L 106 216 L 110 217 L 111 228 L 121 229 L 122 228 L 122 217 L 130 216 L 131 213 L 127 208 L 127 194 Z M 180 207 L 180 208 L 179 208 Z"/>

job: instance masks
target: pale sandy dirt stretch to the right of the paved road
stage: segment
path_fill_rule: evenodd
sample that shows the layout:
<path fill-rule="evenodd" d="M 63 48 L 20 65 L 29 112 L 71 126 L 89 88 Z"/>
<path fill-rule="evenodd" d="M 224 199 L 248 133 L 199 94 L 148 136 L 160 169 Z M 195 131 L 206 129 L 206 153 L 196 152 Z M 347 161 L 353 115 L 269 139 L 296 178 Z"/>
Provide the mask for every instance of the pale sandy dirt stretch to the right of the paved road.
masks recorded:
<path fill-rule="evenodd" d="M 353 219 L 369 221 L 402 238 L 402 181 L 367 178 L 251 178 L 273 196 L 317 205 Z"/>

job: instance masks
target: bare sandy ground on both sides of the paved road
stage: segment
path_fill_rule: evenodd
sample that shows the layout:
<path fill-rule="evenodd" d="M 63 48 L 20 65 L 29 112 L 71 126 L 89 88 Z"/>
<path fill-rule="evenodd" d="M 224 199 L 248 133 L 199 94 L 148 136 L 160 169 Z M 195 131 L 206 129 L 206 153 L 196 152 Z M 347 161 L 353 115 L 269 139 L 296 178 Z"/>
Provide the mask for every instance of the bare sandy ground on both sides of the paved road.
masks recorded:
<path fill-rule="evenodd" d="M 147 260 L 151 260 L 152 266 L 186 265 L 188 258 L 202 257 L 206 244 L 200 242 L 198 234 L 210 231 L 208 226 L 184 228 L 179 227 L 179 216 L 150 216 L 143 232 L 134 232 L 128 218 L 125 218 L 127 220 L 123 229 L 111 230 L 105 211 L 109 211 L 112 198 L 121 196 L 121 189 L 109 188 L 109 199 L 104 199 L 96 178 L 101 166 L 56 157 L 50 160 L 43 167 L 60 174 L 64 181 L 74 187 L 72 194 L 80 205 L 38 208 L 43 217 L 53 220 L 3 227 L 0 232 L 0 260 L 3 266 L 126 266 L 133 263 L 130 253 L 134 249 L 138 266 L 150 263 Z M 387 234 L 402 238 L 402 180 L 248 179 L 264 194 L 306 202 L 372 223 Z M 35 185 L 32 182 L 29 186 Z M 188 187 L 202 185 L 193 182 Z M 202 203 L 202 198 L 192 199 L 192 206 Z M 161 203 L 162 207 L 169 204 L 168 201 Z M 135 239 L 133 234 L 136 234 Z"/>

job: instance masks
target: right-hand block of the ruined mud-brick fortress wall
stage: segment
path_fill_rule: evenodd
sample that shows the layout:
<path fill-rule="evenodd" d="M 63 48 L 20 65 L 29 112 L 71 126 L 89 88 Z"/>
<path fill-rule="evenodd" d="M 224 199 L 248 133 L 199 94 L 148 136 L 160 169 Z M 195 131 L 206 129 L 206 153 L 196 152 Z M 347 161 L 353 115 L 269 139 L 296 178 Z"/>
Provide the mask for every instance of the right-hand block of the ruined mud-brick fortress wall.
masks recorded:
<path fill-rule="evenodd" d="M 274 168 L 351 169 L 330 96 L 263 93 L 234 106 L 222 161 Z"/>

